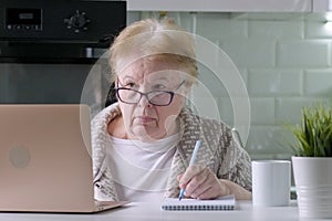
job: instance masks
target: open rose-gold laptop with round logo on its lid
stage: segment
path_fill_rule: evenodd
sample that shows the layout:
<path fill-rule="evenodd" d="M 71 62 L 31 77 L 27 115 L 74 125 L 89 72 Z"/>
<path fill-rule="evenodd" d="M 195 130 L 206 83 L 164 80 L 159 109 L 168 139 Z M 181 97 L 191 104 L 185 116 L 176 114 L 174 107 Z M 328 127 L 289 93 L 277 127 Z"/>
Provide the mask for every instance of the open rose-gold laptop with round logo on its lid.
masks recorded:
<path fill-rule="evenodd" d="M 0 211 L 92 213 L 87 105 L 0 105 Z"/>

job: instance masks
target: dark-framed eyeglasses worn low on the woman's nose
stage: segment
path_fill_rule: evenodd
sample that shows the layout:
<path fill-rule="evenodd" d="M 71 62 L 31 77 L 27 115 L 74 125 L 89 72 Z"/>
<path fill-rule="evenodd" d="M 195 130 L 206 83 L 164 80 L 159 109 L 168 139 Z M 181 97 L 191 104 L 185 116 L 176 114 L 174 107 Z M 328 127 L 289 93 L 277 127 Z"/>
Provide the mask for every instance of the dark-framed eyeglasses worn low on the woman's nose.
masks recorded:
<path fill-rule="evenodd" d="M 185 81 L 183 81 L 176 88 L 177 91 Z M 118 81 L 117 81 L 118 84 Z M 147 93 L 138 92 L 136 90 L 127 87 L 117 87 L 115 88 L 117 97 L 121 102 L 126 104 L 138 104 L 142 96 L 145 96 L 149 104 L 155 106 L 168 106 L 175 95 L 175 91 L 152 91 Z"/>

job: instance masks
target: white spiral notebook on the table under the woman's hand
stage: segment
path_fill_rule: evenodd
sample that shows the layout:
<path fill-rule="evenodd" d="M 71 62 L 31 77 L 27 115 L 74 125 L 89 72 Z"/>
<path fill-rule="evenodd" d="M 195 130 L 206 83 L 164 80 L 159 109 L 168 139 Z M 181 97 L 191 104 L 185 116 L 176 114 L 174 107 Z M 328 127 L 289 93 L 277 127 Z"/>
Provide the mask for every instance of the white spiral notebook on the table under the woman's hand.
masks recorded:
<path fill-rule="evenodd" d="M 219 197 L 214 200 L 196 200 L 166 198 L 162 203 L 163 210 L 234 210 L 236 199 L 234 194 Z"/>

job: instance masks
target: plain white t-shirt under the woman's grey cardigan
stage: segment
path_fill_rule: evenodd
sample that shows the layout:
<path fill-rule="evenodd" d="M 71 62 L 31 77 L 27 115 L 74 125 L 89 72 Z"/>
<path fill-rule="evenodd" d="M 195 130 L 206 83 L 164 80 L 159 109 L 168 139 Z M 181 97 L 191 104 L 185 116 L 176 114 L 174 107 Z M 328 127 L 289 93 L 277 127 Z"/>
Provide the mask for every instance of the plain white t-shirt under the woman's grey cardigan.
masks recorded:
<path fill-rule="evenodd" d="M 156 143 L 107 137 L 107 159 L 120 200 L 160 201 L 179 134 Z"/>

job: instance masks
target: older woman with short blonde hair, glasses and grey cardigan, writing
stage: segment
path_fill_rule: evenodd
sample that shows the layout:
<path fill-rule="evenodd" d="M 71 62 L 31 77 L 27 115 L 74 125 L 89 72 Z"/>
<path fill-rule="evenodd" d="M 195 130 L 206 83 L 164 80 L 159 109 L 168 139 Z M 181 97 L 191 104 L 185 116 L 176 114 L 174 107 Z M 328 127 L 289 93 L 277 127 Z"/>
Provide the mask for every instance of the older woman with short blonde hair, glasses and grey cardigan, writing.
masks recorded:
<path fill-rule="evenodd" d="M 186 198 L 251 199 L 249 155 L 227 125 L 186 106 L 197 80 L 189 33 L 170 19 L 134 22 L 115 39 L 110 64 L 118 102 L 92 122 L 97 200 L 176 198 L 181 188 Z"/>

